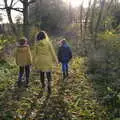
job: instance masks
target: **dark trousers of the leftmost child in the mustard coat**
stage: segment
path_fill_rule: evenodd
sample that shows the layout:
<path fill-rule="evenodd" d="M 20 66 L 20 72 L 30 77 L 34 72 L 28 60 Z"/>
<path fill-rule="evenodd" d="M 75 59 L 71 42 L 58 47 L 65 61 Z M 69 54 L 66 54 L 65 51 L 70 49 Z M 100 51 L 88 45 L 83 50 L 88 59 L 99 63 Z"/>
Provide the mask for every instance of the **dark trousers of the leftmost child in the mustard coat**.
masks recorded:
<path fill-rule="evenodd" d="M 28 82 L 29 82 L 29 76 L 30 76 L 30 65 L 20 66 L 19 67 L 18 82 L 22 81 L 22 77 L 23 77 L 24 73 L 25 73 L 26 83 L 28 84 Z"/>

